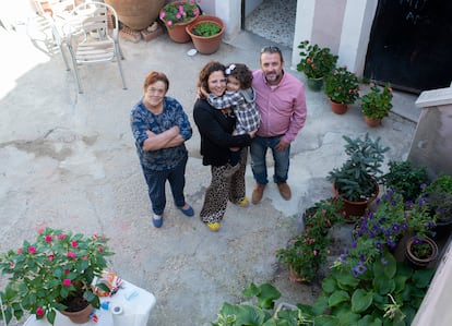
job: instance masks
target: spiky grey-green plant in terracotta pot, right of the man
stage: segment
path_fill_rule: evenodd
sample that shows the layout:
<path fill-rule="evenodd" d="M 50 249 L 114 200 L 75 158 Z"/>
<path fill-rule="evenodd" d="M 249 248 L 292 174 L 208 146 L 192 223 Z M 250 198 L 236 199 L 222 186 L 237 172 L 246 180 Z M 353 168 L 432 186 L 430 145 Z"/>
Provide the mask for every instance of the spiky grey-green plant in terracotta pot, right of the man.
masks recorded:
<path fill-rule="evenodd" d="M 380 137 L 372 140 L 369 134 L 362 138 L 345 135 L 343 138 L 348 158 L 341 168 L 334 168 L 326 180 L 333 182 L 336 196 L 344 202 L 346 216 L 362 216 L 379 193 L 381 166 L 389 147 L 380 144 Z"/>

